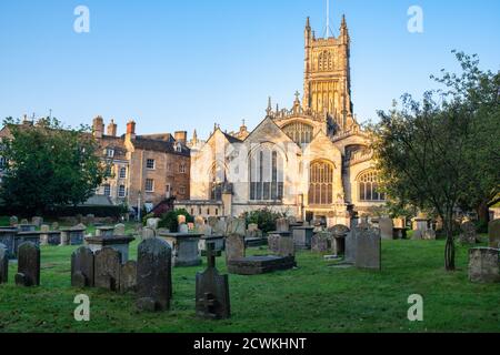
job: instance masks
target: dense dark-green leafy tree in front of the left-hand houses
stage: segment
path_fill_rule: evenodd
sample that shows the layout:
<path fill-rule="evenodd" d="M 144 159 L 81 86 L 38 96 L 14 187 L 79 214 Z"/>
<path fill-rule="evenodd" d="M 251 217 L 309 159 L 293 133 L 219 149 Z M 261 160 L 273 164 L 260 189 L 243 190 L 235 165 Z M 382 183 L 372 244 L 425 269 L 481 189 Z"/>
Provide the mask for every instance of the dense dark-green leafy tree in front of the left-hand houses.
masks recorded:
<path fill-rule="evenodd" d="M 10 136 L 1 142 L 7 161 L 0 199 L 19 213 L 37 213 L 54 206 L 86 202 L 107 178 L 107 164 L 88 129 L 63 126 L 57 119 L 36 124 L 6 119 Z"/>

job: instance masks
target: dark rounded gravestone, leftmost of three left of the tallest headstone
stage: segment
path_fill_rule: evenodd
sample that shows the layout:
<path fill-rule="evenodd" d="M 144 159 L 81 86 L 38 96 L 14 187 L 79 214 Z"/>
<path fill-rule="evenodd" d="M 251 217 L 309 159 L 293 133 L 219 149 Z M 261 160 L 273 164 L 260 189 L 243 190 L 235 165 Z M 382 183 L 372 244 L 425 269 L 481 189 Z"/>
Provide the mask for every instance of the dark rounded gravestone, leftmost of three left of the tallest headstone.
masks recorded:
<path fill-rule="evenodd" d="M 94 285 L 94 255 L 87 247 L 81 246 L 71 254 L 71 286 L 78 288 Z"/>

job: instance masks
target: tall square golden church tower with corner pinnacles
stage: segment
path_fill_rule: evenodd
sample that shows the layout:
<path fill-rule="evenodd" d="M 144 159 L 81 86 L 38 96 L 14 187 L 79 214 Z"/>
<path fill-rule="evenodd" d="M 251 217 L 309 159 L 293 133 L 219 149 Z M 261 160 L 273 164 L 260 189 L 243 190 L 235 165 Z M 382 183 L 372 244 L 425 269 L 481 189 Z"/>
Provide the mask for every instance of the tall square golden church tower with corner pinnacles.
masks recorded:
<path fill-rule="evenodd" d="M 338 131 L 356 124 L 352 116 L 350 38 L 346 17 L 342 17 L 339 37 L 316 38 L 309 18 L 304 30 L 304 98 L 306 111 L 328 116 Z"/>

